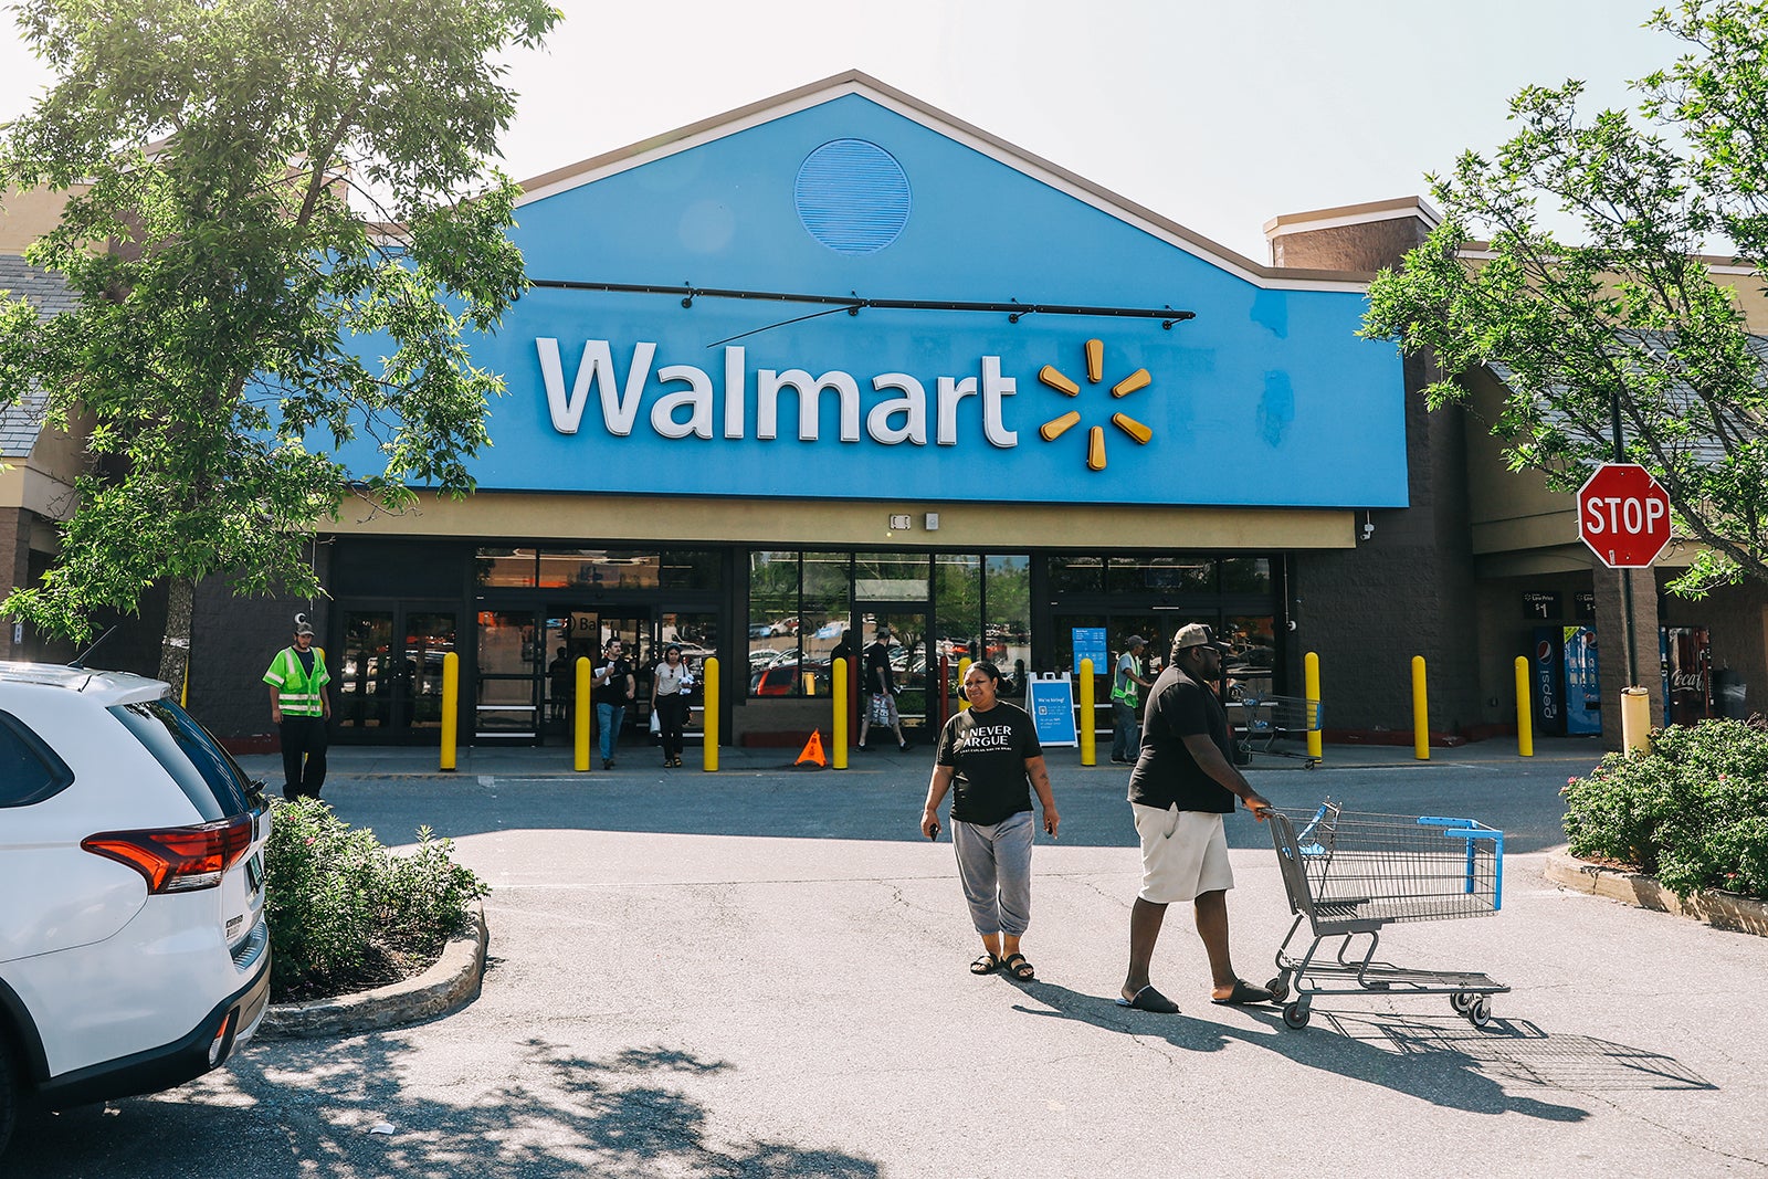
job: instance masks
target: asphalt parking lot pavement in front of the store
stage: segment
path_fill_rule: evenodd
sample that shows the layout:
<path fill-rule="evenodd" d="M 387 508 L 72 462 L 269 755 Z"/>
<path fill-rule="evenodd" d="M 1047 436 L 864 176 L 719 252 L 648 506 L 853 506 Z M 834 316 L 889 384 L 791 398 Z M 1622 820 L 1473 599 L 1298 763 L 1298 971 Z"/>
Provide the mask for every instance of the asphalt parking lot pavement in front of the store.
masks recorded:
<path fill-rule="evenodd" d="M 1052 753 L 1063 840 L 1040 836 L 1025 953 L 1038 981 L 972 977 L 951 847 L 916 834 L 926 757 L 720 774 L 559 774 L 474 753 L 440 778 L 339 755 L 325 797 L 484 875 L 476 1002 L 419 1027 L 256 1043 L 154 1098 L 37 1119 L 5 1174 L 339 1175 L 1761 1175 L 1768 942 L 1542 877 L 1558 744 L 1328 751 L 1261 762 L 1284 808 L 1452 813 L 1506 831 L 1503 912 L 1393 926 L 1381 956 L 1508 983 L 1476 1031 L 1441 997 L 1208 1002 L 1179 909 L 1155 979 L 1181 1013 L 1112 1004 L 1139 880 L 1121 767 Z M 557 753 L 557 751 L 553 751 Z M 401 760 L 403 758 L 403 760 Z M 495 762 L 495 764 L 493 764 Z M 255 769 L 271 769 L 262 758 Z M 1289 926 L 1266 829 L 1232 820 L 1241 974 Z"/>

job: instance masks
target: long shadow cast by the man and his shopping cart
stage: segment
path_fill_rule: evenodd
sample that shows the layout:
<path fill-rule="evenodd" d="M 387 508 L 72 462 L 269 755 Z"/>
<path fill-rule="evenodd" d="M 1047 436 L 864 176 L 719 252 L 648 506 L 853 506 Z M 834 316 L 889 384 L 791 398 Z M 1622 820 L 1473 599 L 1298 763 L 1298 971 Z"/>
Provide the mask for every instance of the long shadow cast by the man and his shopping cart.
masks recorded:
<path fill-rule="evenodd" d="M 1715 1089 L 1673 1057 L 1627 1048 L 1588 1036 L 1551 1036 L 1540 1027 L 1494 1018 L 1485 1031 L 1444 1016 L 1398 1018 L 1314 1011 L 1301 1031 L 1284 1027 L 1276 1008 L 1229 1009 L 1245 1016 L 1234 1023 L 1179 1015 L 1128 1011 L 1114 997 L 1084 995 L 1054 983 L 1020 985 L 1045 1008 L 1015 1004 L 1025 1015 L 1075 1020 L 1109 1032 L 1160 1038 L 1186 1052 L 1220 1052 L 1243 1041 L 1275 1052 L 1303 1068 L 1335 1073 L 1393 1089 L 1434 1105 L 1469 1114 L 1520 1114 L 1552 1122 L 1577 1122 L 1589 1110 L 1505 1091 L 1503 1082 L 1535 1085 L 1545 1092 L 1612 1089 Z M 1450 1023 L 1453 1020 L 1453 1023 Z"/>

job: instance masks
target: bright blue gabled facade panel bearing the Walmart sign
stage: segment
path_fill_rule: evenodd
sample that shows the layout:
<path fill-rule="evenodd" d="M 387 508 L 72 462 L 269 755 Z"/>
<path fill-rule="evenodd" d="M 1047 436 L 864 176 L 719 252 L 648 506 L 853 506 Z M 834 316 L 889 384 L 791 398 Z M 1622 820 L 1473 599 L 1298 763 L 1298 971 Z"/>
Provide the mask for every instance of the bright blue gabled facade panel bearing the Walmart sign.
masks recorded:
<path fill-rule="evenodd" d="M 827 166 L 840 154 L 819 161 L 817 212 L 804 214 L 804 163 L 842 140 L 900 166 L 872 156 L 852 179 L 852 200 L 877 200 L 863 216 L 900 221 L 870 253 L 843 246 L 870 240 L 872 221 L 826 216 L 842 196 Z M 534 200 L 518 219 L 534 279 L 1170 306 L 1197 318 L 1167 331 L 1147 318 L 863 309 L 780 325 L 822 308 L 536 288 L 472 345 L 509 385 L 492 407 L 493 447 L 472 467 L 484 490 L 1406 504 L 1400 361 L 1354 336 L 1361 293 L 1264 290 L 861 95 Z M 1098 382 L 1087 339 L 1103 345 Z M 1078 394 L 1040 382 L 1045 366 Z M 1139 369 L 1147 384 L 1114 398 Z M 785 380 L 776 396 L 769 373 Z M 797 387 L 819 382 L 812 430 Z M 1070 412 L 1075 426 L 1040 435 Z M 1101 470 L 1087 461 L 1094 426 Z"/>

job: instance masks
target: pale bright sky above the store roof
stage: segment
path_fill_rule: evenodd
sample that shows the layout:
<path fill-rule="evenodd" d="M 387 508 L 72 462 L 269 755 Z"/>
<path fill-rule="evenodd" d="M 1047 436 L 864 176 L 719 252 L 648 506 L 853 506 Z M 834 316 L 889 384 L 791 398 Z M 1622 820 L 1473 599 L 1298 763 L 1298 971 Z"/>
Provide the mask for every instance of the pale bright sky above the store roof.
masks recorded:
<path fill-rule="evenodd" d="M 1524 85 L 1628 80 L 1657 0 L 555 0 L 507 57 L 520 179 L 861 69 L 1255 262 L 1285 212 L 1427 194 Z M 5 12 L 0 122 L 50 81 Z"/>

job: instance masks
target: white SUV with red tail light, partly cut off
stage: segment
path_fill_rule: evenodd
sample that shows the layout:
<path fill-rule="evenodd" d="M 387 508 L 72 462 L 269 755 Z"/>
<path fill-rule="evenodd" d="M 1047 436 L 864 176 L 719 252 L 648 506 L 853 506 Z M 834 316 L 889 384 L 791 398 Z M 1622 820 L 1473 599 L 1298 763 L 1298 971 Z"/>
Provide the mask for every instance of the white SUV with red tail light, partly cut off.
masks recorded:
<path fill-rule="evenodd" d="M 157 1092 L 251 1038 L 269 834 L 166 684 L 0 663 L 0 1154 L 27 1099 Z"/>

